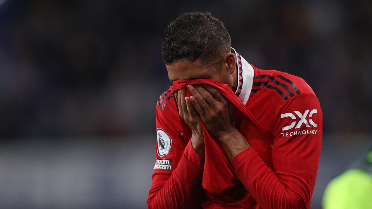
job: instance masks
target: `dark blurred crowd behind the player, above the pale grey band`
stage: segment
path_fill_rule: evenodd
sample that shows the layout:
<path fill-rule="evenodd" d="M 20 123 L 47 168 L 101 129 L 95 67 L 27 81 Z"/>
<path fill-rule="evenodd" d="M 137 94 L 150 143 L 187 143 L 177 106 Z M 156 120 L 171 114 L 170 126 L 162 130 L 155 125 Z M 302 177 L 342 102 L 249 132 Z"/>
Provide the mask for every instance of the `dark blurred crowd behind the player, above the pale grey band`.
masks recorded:
<path fill-rule="evenodd" d="M 325 133 L 370 132 L 372 1 L 5 0 L 1 138 L 153 133 L 170 84 L 160 43 L 193 11 L 221 19 L 254 66 L 304 78 Z"/>

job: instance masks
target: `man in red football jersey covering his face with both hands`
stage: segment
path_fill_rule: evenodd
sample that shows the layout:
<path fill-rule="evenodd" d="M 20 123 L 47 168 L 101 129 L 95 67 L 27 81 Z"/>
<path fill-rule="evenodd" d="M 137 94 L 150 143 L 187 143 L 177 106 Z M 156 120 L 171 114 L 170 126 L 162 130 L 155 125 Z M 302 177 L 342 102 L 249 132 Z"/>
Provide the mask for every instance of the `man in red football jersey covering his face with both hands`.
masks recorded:
<path fill-rule="evenodd" d="M 323 118 L 310 86 L 248 64 L 210 13 L 185 13 L 166 31 L 170 80 L 211 85 L 160 95 L 148 208 L 310 208 Z"/>

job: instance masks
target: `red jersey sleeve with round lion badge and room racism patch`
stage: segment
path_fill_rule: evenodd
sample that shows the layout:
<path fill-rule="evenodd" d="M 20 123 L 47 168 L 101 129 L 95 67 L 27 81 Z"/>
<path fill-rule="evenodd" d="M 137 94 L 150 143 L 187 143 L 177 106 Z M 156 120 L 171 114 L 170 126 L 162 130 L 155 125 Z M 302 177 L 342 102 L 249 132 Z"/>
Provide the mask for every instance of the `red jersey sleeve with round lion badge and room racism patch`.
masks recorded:
<path fill-rule="evenodd" d="M 175 100 L 164 106 L 156 107 L 156 159 L 148 208 L 195 208 L 202 189 L 204 157 L 189 140 L 185 143 Z"/>

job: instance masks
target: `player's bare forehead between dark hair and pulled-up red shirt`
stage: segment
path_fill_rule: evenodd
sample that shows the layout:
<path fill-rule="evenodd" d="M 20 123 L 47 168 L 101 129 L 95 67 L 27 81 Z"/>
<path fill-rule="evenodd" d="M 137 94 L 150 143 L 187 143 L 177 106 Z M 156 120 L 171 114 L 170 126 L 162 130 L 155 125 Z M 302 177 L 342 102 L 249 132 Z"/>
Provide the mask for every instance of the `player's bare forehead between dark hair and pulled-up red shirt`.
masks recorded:
<path fill-rule="evenodd" d="M 193 78 L 209 78 L 214 70 L 213 66 L 203 64 L 201 61 L 194 62 L 182 60 L 166 65 L 170 80 L 190 80 Z"/>

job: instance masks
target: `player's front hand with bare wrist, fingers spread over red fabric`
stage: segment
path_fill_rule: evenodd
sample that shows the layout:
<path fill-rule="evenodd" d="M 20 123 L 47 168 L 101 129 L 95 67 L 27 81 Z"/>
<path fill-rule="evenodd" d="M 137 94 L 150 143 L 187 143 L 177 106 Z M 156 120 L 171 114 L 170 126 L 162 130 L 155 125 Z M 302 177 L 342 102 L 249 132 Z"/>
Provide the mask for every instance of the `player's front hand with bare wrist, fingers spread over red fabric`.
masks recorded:
<path fill-rule="evenodd" d="M 250 147 L 235 127 L 236 107 L 217 89 L 209 85 L 187 86 L 193 95 L 189 98 L 208 130 L 224 146 L 230 160 Z"/>

